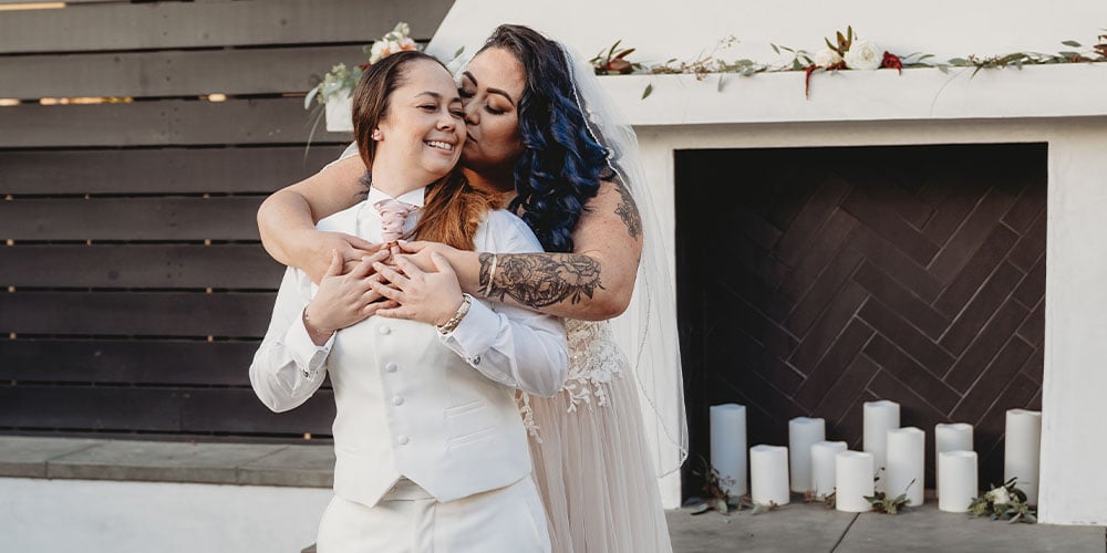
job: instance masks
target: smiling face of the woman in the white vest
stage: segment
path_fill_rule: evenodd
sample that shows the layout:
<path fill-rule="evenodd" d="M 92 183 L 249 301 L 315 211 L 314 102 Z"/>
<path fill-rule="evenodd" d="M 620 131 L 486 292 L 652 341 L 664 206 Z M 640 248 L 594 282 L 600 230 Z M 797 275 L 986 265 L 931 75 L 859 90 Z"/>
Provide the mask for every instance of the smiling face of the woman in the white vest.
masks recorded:
<path fill-rule="evenodd" d="M 434 61 L 414 60 L 402 70 L 402 82 L 373 128 L 374 180 L 382 170 L 402 167 L 405 180 L 425 185 L 449 173 L 461 157 L 462 98 L 449 72 Z"/>

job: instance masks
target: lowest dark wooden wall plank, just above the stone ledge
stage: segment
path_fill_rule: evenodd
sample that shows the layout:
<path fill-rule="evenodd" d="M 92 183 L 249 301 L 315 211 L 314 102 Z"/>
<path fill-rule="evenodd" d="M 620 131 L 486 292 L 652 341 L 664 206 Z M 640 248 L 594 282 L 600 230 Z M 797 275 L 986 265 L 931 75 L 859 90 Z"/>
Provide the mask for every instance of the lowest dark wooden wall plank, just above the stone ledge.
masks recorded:
<path fill-rule="evenodd" d="M 329 434 L 332 398 L 319 390 L 275 414 L 249 388 L 0 386 L 0 428 Z"/>

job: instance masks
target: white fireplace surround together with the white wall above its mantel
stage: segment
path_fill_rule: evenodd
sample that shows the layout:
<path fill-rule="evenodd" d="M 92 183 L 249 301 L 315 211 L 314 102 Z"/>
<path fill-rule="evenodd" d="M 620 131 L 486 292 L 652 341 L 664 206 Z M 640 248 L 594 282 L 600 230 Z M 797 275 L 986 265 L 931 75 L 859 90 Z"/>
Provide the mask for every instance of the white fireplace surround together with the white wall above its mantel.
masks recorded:
<path fill-rule="evenodd" d="M 814 51 L 847 24 L 896 53 L 937 60 L 1013 51 L 1057 52 L 1085 45 L 1107 27 L 1107 2 L 940 0 L 911 7 L 877 0 L 545 2 L 458 0 L 430 45 L 449 58 L 474 52 L 503 22 L 531 25 L 586 55 L 621 39 L 634 61 L 692 59 L 718 39 L 741 43 L 725 59 L 779 60 L 769 43 Z M 609 77 L 639 131 L 666 247 L 673 244 L 673 150 L 1046 142 L 1048 228 L 1045 385 L 1039 514 L 1043 522 L 1107 524 L 1107 434 L 1099 404 L 1107 390 L 1107 67 L 1030 67 L 1020 73 L 937 70 L 816 75 L 810 101 L 801 74 L 727 77 L 725 92 L 691 77 Z M 654 93 L 639 100 L 646 83 Z M 744 88 L 743 88 L 744 87 Z M 679 500 L 662 482 L 666 507 Z"/>

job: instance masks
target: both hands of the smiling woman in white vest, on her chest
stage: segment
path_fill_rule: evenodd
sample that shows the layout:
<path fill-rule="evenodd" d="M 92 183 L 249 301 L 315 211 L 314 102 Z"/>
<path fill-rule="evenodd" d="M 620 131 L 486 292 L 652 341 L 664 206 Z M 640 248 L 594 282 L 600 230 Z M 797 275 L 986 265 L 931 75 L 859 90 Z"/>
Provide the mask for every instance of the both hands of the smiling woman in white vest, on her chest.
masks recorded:
<path fill-rule="evenodd" d="M 461 306 L 462 290 L 442 254 L 431 254 L 428 269 L 420 269 L 399 249 L 387 248 L 346 270 L 343 255 L 332 251 L 330 267 L 306 313 L 312 327 L 323 333 L 374 314 L 441 325 Z"/>

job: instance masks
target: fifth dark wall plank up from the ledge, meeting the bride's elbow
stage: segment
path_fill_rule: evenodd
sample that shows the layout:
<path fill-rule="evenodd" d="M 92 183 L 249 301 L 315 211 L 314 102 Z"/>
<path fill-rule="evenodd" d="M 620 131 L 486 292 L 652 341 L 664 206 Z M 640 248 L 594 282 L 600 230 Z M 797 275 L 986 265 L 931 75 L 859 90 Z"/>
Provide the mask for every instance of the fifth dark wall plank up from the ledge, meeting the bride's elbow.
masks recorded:
<path fill-rule="evenodd" d="M 92 198 L 0 201 L 0 239 L 258 240 L 263 198 Z"/>

